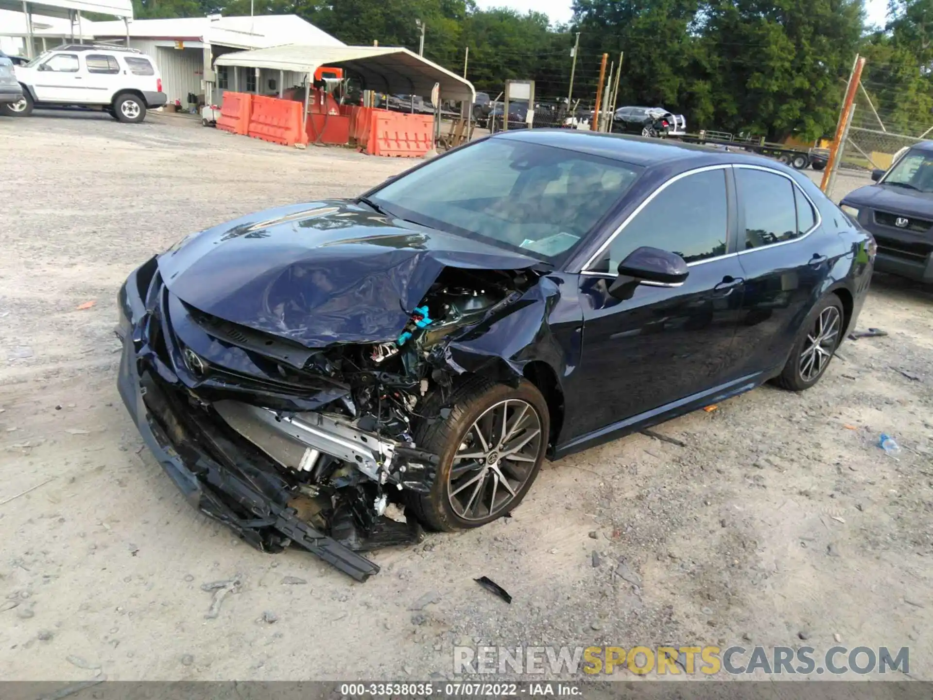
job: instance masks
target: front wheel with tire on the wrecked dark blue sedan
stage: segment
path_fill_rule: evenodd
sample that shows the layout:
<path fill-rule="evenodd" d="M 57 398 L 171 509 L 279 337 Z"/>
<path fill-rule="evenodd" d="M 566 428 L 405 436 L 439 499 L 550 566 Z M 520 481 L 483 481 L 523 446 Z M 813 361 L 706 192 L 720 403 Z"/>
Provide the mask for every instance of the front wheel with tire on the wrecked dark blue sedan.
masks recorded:
<path fill-rule="evenodd" d="M 445 420 L 423 421 L 419 448 L 440 456 L 427 494 L 411 494 L 416 517 L 433 530 L 486 525 L 521 502 L 541 469 L 550 434 L 548 404 L 535 385 L 517 388 L 473 377 L 445 402 Z M 437 413 L 440 405 L 425 408 Z"/>

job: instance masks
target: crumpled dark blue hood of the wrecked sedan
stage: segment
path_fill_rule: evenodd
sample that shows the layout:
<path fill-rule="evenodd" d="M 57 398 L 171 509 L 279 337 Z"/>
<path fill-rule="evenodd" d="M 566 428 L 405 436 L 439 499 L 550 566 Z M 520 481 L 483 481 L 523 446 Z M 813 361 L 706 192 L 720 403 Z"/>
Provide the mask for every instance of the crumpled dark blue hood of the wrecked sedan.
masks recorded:
<path fill-rule="evenodd" d="M 331 201 L 266 210 L 195 233 L 159 257 L 162 280 L 207 314 L 308 347 L 397 339 L 444 267 L 539 260 Z"/>

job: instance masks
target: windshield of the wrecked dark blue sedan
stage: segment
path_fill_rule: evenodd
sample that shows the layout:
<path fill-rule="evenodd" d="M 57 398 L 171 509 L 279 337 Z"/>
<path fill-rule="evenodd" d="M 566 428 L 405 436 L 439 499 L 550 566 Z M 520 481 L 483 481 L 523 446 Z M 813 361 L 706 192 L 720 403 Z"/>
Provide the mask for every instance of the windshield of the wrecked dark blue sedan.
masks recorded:
<path fill-rule="evenodd" d="M 369 199 L 392 216 L 554 262 L 619 202 L 641 170 L 493 138 L 430 161 Z"/>

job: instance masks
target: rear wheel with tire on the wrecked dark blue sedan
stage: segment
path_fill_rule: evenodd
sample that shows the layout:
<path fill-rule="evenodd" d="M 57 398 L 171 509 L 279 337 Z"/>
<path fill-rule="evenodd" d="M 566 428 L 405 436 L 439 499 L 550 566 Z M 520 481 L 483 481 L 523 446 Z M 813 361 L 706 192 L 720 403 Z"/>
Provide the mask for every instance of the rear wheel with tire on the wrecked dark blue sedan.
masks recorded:
<path fill-rule="evenodd" d="M 844 318 L 839 297 L 823 297 L 803 322 L 787 364 L 774 384 L 788 391 L 803 391 L 815 385 L 842 343 Z"/>

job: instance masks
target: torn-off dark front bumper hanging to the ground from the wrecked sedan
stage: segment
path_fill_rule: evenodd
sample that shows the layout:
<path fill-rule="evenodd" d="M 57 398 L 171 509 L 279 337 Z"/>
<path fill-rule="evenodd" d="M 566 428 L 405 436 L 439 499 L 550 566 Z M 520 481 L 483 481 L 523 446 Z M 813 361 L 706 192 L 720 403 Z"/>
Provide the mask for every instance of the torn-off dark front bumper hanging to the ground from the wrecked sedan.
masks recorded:
<path fill-rule="evenodd" d="M 379 567 L 299 520 L 288 507 L 297 484 L 220 421 L 195 417 L 190 401 L 168 385 L 146 359 L 148 279 L 155 259 L 133 272 L 118 296 L 123 343 L 118 390 L 146 446 L 191 505 L 229 525 L 264 552 L 294 542 L 327 563 L 366 581 Z"/>

